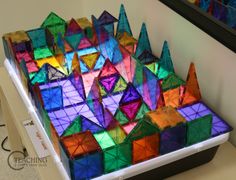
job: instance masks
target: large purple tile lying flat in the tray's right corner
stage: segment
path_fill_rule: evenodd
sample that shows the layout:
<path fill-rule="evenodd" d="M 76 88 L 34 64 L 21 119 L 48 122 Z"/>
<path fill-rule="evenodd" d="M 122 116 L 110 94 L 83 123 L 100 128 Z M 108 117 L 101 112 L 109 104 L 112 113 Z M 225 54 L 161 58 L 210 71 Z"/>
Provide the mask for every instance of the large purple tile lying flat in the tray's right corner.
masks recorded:
<path fill-rule="evenodd" d="M 223 119 L 201 102 L 180 108 L 178 111 L 187 121 L 192 121 L 205 115 L 212 114 L 212 137 L 229 132 L 232 129 Z"/>

